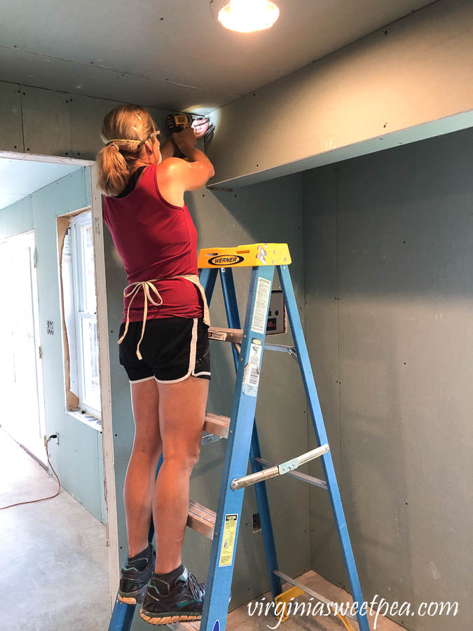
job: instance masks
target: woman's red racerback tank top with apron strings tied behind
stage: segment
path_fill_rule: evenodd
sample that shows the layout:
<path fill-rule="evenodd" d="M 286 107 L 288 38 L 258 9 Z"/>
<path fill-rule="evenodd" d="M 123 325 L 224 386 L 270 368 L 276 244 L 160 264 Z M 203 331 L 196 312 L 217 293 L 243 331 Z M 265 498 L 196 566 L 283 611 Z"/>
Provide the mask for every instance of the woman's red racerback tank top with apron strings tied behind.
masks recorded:
<path fill-rule="evenodd" d="M 128 284 L 164 279 L 154 283 L 163 304 L 148 303 L 146 319 L 202 317 L 197 287 L 184 278 L 166 280 L 169 276 L 198 274 L 197 231 L 187 206 L 174 206 L 160 194 L 156 164 L 144 169 L 129 195 L 104 197 L 103 218 L 123 260 Z M 122 322 L 130 299 L 123 300 Z M 139 290 L 130 308 L 130 322 L 143 320 L 143 308 L 144 293 Z"/>

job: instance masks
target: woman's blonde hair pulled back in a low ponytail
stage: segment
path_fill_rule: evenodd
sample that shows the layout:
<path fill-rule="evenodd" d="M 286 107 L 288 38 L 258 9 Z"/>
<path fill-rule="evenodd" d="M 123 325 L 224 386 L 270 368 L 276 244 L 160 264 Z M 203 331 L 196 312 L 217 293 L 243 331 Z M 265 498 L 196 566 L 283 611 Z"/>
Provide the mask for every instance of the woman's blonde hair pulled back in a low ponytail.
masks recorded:
<path fill-rule="evenodd" d="M 139 105 L 118 105 L 102 123 L 107 146 L 97 155 L 98 186 L 105 195 L 123 191 L 141 153 L 142 144 L 156 130 L 149 112 Z"/>

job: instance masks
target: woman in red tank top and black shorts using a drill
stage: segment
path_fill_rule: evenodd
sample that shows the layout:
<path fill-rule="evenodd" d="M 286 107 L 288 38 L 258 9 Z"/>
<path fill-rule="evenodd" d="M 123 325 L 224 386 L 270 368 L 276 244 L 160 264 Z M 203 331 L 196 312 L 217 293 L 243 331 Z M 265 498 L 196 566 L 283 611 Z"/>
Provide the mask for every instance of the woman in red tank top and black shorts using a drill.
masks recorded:
<path fill-rule="evenodd" d="M 129 283 L 119 344 L 135 440 L 123 489 L 129 552 L 118 598 L 142 602 L 142 618 L 157 625 L 199 619 L 205 593 L 181 564 L 181 549 L 210 379 L 208 310 L 184 192 L 214 175 L 196 149 L 207 128 L 206 119 L 196 121 L 160 147 L 149 113 L 120 105 L 104 118 L 106 146 L 97 156 L 104 222 Z M 187 160 L 173 157 L 176 147 Z M 148 543 L 151 514 L 156 552 Z"/>

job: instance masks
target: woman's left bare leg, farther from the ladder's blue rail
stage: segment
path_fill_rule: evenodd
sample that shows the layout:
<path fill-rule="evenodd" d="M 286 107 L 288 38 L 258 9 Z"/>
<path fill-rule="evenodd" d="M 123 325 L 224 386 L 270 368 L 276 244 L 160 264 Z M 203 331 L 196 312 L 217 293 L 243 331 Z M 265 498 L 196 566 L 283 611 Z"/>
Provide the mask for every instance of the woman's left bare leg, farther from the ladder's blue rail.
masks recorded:
<path fill-rule="evenodd" d="M 134 557 L 148 545 L 156 468 L 162 451 L 156 379 L 131 384 L 131 397 L 135 440 L 125 476 L 123 501 L 129 555 Z"/>

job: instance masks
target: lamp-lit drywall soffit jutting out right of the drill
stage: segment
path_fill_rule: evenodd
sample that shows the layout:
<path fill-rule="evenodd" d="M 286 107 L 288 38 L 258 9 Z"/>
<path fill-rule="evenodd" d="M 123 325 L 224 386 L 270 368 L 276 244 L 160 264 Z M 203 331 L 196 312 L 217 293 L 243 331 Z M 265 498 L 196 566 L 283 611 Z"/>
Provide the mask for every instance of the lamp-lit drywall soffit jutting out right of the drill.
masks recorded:
<path fill-rule="evenodd" d="M 212 182 L 261 182 L 473 124 L 473 4 L 439 0 L 212 113 Z"/>

